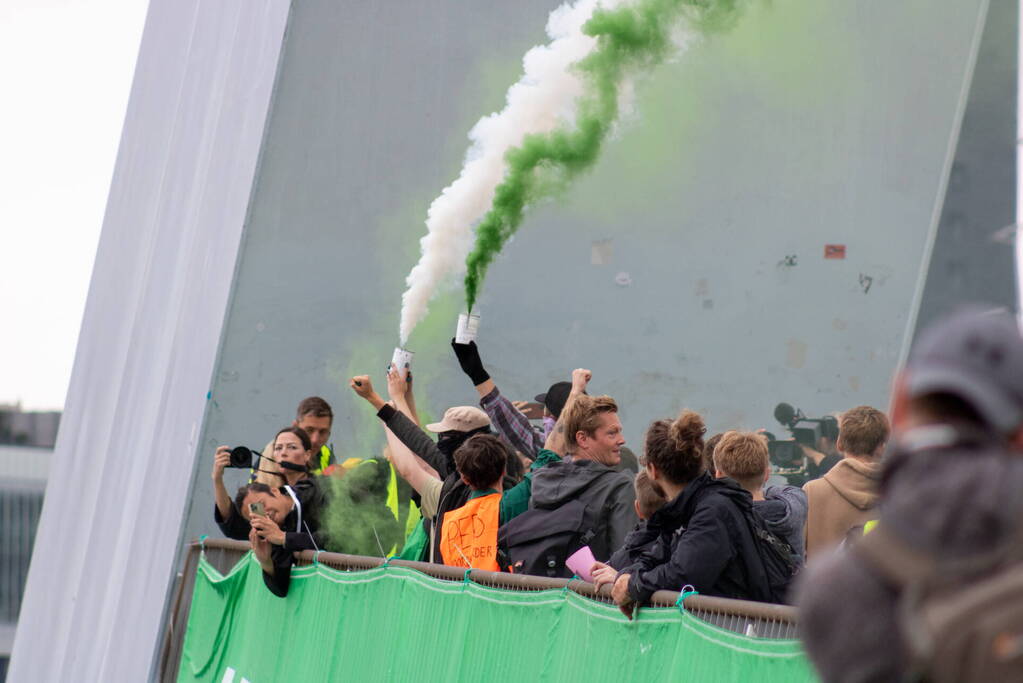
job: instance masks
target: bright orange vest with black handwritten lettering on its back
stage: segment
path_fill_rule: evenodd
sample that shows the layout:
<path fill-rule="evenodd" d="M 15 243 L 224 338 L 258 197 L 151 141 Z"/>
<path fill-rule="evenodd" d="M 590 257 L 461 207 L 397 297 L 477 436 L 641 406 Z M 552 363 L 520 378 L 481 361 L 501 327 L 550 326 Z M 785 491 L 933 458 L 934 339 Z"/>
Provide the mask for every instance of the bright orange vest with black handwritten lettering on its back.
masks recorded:
<path fill-rule="evenodd" d="M 441 557 L 444 563 L 500 572 L 497 565 L 500 511 L 501 494 L 492 493 L 445 512 L 441 525 Z"/>

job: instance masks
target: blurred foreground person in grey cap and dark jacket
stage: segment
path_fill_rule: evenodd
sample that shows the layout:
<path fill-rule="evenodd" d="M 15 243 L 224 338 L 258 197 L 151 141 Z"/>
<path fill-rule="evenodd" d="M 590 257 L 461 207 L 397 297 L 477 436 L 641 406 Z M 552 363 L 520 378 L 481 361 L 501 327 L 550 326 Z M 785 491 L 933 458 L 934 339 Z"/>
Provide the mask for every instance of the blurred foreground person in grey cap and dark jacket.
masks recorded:
<path fill-rule="evenodd" d="M 1016 540 L 1023 515 L 1023 339 L 1004 314 L 967 311 L 928 328 L 897 375 L 893 445 L 883 464 L 878 526 L 815 558 L 797 590 L 806 651 L 826 681 L 926 680 L 936 651 L 915 600 L 970 585 L 958 565 Z M 901 584 L 869 552 L 934 567 Z M 963 623 L 959 628 L 966 629 Z M 991 656 L 988 652 L 987 656 Z"/>

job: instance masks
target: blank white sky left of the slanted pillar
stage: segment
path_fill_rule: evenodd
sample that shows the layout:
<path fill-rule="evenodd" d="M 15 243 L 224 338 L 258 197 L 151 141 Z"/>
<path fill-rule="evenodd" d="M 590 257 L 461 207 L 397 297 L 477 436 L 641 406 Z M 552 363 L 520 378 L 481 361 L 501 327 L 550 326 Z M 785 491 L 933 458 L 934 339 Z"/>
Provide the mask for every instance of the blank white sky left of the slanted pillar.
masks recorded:
<path fill-rule="evenodd" d="M 59 409 L 147 0 L 0 0 L 0 404 Z"/>

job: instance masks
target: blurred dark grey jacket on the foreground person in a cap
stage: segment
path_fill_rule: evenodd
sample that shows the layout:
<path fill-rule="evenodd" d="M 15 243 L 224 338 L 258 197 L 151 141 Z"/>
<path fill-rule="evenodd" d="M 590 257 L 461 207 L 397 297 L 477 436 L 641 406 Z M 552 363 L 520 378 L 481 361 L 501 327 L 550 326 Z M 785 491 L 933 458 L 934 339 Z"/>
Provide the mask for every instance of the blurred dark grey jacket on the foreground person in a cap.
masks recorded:
<path fill-rule="evenodd" d="M 1023 458 L 990 436 L 935 426 L 899 435 L 882 470 L 880 522 L 917 551 L 977 557 L 1013 538 L 1023 518 Z M 949 576 L 942 585 L 953 594 L 958 584 Z M 847 547 L 811 558 L 797 587 L 799 628 L 822 680 L 905 677 L 899 596 Z"/>

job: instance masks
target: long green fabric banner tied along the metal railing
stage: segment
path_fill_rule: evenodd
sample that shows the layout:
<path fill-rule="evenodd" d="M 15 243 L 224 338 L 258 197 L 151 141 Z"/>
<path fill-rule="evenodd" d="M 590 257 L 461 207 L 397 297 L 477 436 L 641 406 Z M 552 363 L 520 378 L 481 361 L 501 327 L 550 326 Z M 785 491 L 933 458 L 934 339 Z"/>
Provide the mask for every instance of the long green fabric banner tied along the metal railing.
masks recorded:
<path fill-rule="evenodd" d="M 748 638 L 676 608 L 634 622 L 572 591 L 508 591 L 413 570 L 293 570 L 286 599 L 250 553 L 204 557 L 179 681 L 813 681 L 796 640 Z"/>

